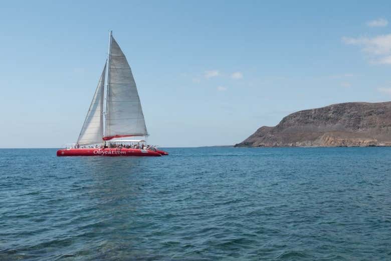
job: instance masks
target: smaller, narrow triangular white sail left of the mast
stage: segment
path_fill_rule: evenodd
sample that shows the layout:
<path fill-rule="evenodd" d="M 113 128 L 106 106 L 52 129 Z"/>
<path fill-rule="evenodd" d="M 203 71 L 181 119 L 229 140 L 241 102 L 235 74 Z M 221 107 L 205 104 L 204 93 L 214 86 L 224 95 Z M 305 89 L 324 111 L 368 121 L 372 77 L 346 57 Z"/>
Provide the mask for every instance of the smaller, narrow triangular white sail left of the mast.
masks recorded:
<path fill-rule="evenodd" d="M 79 138 L 77 139 L 77 143 L 80 145 L 102 143 L 102 137 L 103 137 L 102 109 L 103 109 L 105 73 L 106 73 L 106 65 L 103 68 L 102 75 L 100 76 L 99 79 L 98 87 L 96 87 L 96 91 L 94 97 L 92 98 L 92 102 L 88 110 L 86 119 L 80 131 Z"/>

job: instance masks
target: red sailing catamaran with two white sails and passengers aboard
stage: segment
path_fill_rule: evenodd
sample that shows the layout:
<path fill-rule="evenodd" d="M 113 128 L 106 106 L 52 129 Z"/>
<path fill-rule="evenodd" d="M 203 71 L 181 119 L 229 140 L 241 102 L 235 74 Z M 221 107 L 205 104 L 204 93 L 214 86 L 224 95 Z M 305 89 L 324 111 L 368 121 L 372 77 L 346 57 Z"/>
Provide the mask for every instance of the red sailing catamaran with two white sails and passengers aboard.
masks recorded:
<path fill-rule="evenodd" d="M 148 132 L 132 71 L 109 34 L 109 53 L 76 144 L 57 156 L 161 156 L 146 144 Z M 130 137 L 145 137 L 129 139 Z"/>

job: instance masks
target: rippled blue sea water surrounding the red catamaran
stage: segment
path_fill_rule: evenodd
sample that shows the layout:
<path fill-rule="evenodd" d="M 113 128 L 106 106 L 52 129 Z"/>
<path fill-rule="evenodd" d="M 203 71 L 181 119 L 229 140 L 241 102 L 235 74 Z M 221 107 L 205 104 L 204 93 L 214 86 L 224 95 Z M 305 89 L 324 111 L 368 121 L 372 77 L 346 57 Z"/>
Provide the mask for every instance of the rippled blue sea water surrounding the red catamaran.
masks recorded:
<path fill-rule="evenodd" d="M 0 150 L 0 260 L 390 260 L 391 148 Z"/>

